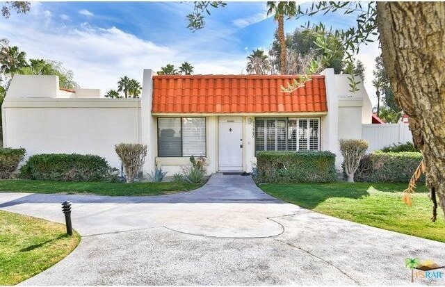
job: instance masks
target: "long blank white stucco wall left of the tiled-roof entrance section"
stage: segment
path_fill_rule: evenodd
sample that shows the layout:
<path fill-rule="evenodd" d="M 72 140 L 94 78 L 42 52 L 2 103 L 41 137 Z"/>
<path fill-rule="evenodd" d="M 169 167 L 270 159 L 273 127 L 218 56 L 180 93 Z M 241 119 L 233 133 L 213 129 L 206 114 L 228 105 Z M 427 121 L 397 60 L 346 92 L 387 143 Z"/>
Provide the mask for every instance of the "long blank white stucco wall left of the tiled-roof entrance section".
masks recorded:
<path fill-rule="evenodd" d="M 71 102 L 64 101 L 63 107 L 60 107 L 60 99 L 40 103 L 44 106 L 35 106 L 38 101 L 6 100 L 3 104 L 3 145 L 24 147 L 26 157 L 42 153 L 96 154 L 106 158 L 111 166 L 120 168 L 114 145 L 138 142 L 140 117 L 136 120 L 136 104 L 140 101 L 130 100 L 131 106 L 122 107 L 122 102 L 109 105 L 110 99 L 87 103 L 67 100 Z"/>

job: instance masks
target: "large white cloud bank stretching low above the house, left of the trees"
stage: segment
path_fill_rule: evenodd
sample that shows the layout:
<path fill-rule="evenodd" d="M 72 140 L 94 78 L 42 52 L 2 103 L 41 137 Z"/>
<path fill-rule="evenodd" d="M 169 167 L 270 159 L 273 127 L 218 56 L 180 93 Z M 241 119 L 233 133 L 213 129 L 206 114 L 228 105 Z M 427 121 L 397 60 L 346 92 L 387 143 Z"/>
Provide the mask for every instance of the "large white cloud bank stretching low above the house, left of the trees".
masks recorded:
<path fill-rule="evenodd" d="M 10 44 L 26 51 L 27 58 L 58 60 L 72 69 L 82 88 L 100 88 L 102 93 L 115 89 L 120 76 L 142 81 L 143 69 L 157 71 L 167 63 L 180 65 L 188 61 L 195 66 L 195 74 L 238 74 L 245 65 L 243 55 L 194 51 L 190 47 L 196 38 L 168 47 L 116 27 L 81 24 L 74 28 L 47 28 L 22 20 L 0 22 L 0 33 Z"/>

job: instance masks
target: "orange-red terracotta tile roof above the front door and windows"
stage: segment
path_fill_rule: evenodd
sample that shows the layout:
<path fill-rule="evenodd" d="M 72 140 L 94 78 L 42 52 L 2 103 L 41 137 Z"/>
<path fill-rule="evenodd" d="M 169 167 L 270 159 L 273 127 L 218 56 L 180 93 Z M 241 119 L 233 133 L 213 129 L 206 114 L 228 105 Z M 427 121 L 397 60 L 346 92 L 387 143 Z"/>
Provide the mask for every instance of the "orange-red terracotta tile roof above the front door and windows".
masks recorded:
<path fill-rule="evenodd" d="M 280 87 L 295 76 L 158 75 L 153 77 L 152 113 L 326 112 L 325 77 L 312 76 L 291 94 Z"/>

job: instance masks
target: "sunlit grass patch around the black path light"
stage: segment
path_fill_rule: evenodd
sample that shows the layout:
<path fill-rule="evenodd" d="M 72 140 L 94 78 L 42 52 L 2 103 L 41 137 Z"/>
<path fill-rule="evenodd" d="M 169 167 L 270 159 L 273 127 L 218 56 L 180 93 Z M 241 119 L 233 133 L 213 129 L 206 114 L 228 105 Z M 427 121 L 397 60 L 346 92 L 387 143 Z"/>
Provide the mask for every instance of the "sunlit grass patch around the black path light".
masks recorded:
<path fill-rule="evenodd" d="M 79 244 L 65 225 L 0 211 L 0 285 L 14 285 L 54 265 Z"/>

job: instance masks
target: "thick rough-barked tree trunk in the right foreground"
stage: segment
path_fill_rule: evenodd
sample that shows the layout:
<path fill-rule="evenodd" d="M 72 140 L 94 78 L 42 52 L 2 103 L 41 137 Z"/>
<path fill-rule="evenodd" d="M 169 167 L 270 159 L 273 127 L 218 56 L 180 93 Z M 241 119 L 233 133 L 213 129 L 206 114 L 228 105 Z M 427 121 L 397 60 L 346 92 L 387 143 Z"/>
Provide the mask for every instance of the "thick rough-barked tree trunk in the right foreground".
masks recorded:
<path fill-rule="evenodd" d="M 426 183 L 445 211 L 445 3 L 378 2 L 377 15 L 396 103 L 410 116 Z"/>

